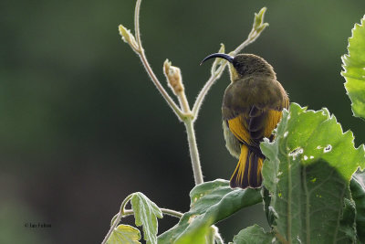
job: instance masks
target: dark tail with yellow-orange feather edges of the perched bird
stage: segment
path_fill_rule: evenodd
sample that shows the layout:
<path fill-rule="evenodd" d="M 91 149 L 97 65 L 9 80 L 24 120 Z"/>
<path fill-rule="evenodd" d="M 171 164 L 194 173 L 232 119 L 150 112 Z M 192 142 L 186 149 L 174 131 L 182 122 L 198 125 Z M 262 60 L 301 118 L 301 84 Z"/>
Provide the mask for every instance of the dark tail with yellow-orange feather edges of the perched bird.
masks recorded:
<path fill-rule="evenodd" d="M 234 175 L 231 177 L 231 187 L 257 188 L 261 186 L 261 169 L 264 158 L 262 154 L 257 154 L 245 144 L 241 146 L 239 162 L 235 167 Z"/>

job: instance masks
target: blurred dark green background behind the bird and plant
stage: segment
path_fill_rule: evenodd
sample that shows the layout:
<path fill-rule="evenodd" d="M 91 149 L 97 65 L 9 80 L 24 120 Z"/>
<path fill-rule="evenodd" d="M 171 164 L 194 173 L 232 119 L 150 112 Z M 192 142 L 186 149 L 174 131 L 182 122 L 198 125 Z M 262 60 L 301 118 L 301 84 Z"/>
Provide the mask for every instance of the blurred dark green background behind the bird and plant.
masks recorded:
<path fill-rule="evenodd" d="M 135 1 L 2 1 L 0 4 L 0 243 L 99 243 L 125 196 L 141 191 L 159 207 L 186 211 L 193 187 L 184 127 L 120 40 L 133 28 Z M 340 56 L 365 1 L 144 1 L 146 54 L 165 84 L 162 63 L 183 72 L 193 103 L 209 77 L 199 66 L 220 43 L 240 44 L 254 13 L 270 26 L 245 49 L 273 65 L 291 101 L 328 107 L 356 144 L 364 122 L 351 116 Z M 196 122 L 206 181 L 229 179 L 221 101 L 227 72 Z M 133 217 L 125 223 L 132 224 Z M 26 223 L 51 228 L 26 228 Z M 164 217 L 160 233 L 177 222 Z M 224 239 L 259 223 L 262 206 L 218 226 Z"/>

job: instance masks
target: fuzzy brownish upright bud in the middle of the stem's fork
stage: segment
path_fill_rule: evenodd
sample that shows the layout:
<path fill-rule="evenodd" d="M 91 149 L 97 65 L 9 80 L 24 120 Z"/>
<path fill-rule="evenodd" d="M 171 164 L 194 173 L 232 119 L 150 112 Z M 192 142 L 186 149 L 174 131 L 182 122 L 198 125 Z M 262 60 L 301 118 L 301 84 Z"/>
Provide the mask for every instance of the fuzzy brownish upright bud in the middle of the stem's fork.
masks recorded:
<path fill-rule="evenodd" d="M 173 91 L 173 93 L 178 96 L 183 92 L 183 79 L 180 69 L 171 65 L 172 63 L 166 59 L 163 63 L 163 74 L 166 76 L 167 84 Z"/>

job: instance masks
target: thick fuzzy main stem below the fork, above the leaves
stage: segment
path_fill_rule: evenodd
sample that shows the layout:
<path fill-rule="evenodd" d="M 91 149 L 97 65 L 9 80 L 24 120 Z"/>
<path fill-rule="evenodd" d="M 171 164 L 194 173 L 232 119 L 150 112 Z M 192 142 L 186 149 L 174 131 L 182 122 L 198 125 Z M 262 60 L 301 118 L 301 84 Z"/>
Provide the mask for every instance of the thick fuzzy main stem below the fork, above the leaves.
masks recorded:
<path fill-rule="evenodd" d="M 193 117 L 188 117 L 184 121 L 184 123 L 185 123 L 186 133 L 188 135 L 190 156 L 192 158 L 194 181 L 195 185 L 199 185 L 203 183 L 203 174 L 202 174 L 202 166 L 200 165 L 198 146 L 196 144 L 195 133 L 193 129 L 193 119 L 194 119 Z"/>

